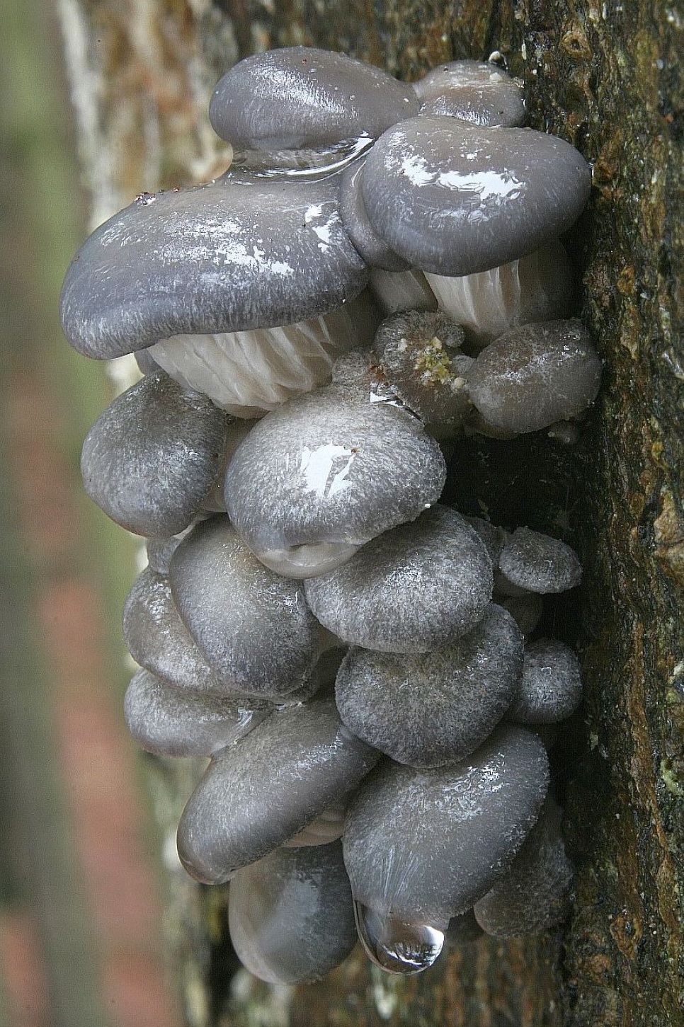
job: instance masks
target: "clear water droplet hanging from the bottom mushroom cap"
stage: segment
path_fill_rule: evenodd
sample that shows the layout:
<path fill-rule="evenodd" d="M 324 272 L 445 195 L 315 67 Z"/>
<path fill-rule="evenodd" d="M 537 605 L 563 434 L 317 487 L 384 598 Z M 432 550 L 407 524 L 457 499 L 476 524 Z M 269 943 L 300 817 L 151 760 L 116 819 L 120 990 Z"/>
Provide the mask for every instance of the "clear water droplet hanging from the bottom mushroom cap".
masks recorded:
<path fill-rule="evenodd" d="M 388 974 L 420 974 L 442 952 L 444 931 L 428 923 L 407 923 L 354 903 L 356 929 L 364 950 Z"/>

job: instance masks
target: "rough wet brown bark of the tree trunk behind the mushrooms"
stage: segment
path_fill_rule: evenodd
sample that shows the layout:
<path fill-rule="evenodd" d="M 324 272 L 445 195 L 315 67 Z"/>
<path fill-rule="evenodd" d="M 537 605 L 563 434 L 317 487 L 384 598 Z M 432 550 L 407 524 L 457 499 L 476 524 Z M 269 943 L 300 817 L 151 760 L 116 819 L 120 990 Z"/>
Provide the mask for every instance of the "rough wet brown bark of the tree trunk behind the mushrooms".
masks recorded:
<path fill-rule="evenodd" d="M 416 77 L 499 49 L 526 83 L 529 122 L 594 166 L 572 233 L 585 322 L 605 358 L 582 445 L 469 445 L 450 498 L 492 519 L 566 527 L 585 567 L 586 698 L 556 747 L 576 864 L 557 934 L 455 948 L 396 980 L 353 955 L 320 985 L 237 977 L 224 897 L 173 873 L 169 934 L 190 1024 L 587 1027 L 682 1023 L 684 963 L 684 10 L 644 0 L 58 0 L 85 181 L 100 221 L 144 189 L 222 168 L 206 103 L 237 58 L 296 43 Z M 507 454 L 507 455 L 505 455 Z M 466 463 L 466 456 L 472 457 Z M 466 469 L 467 467 L 474 469 Z M 511 467 L 514 468 L 511 470 Z M 478 469 L 480 468 L 480 469 Z M 497 469 L 498 468 L 498 469 Z M 498 511 L 501 511 L 500 515 Z M 174 830 L 188 771 L 150 761 Z"/>

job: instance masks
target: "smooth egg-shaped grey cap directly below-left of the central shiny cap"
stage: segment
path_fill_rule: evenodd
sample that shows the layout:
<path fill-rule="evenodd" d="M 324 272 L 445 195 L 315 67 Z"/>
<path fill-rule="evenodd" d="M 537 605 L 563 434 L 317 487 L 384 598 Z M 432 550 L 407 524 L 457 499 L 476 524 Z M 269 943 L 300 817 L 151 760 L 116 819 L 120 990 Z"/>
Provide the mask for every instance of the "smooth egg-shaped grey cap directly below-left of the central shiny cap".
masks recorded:
<path fill-rule="evenodd" d="M 227 518 L 204 521 L 181 542 L 169 581 L 207 663 L 235 690 L 276 698 L 308 680 L 320 634 L 304 588 L 260 564 Z"/>

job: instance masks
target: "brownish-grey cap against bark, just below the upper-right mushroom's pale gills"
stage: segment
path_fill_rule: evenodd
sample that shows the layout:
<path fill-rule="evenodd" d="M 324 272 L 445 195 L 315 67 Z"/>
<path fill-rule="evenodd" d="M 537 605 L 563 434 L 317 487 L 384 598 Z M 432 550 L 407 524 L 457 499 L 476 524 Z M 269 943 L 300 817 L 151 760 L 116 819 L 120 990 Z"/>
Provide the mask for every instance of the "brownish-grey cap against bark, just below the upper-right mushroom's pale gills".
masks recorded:
<path fill-rule="evenodd" d="M 601 360 L 576 318 L 524 325 L 499 336 L 467 369 L 480 413 L 507 431 L 537 431 L 581 414 L 601 384 Z"/>

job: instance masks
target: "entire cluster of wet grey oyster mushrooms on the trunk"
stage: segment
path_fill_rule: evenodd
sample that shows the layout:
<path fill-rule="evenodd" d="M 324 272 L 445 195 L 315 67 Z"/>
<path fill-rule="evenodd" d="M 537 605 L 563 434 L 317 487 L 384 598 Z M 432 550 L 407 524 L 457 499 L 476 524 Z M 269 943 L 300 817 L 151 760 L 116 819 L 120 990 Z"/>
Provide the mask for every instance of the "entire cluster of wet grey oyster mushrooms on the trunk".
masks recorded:
<path fill-rule="evenodd" d="M 591 174 L 521 127 L 491 63 L 407 84 L 273 50 L 210 117 L 226 174 L 141 194 L 63 292 L 77 349 L 144 372 L 82 456 L 88 494 L 148 540 L 126 722 L 210 758 L 178 851 L 230 881 L 249 969 L 315 979 L 358 936 L 416 973 L 473 911 L 540 930 L 570 886 L 539 732 L 581 680 L 535 630 L 579 562 L 439 500 L 463 433 L 569 440 L 597 394 L 558 238 Z"/>

